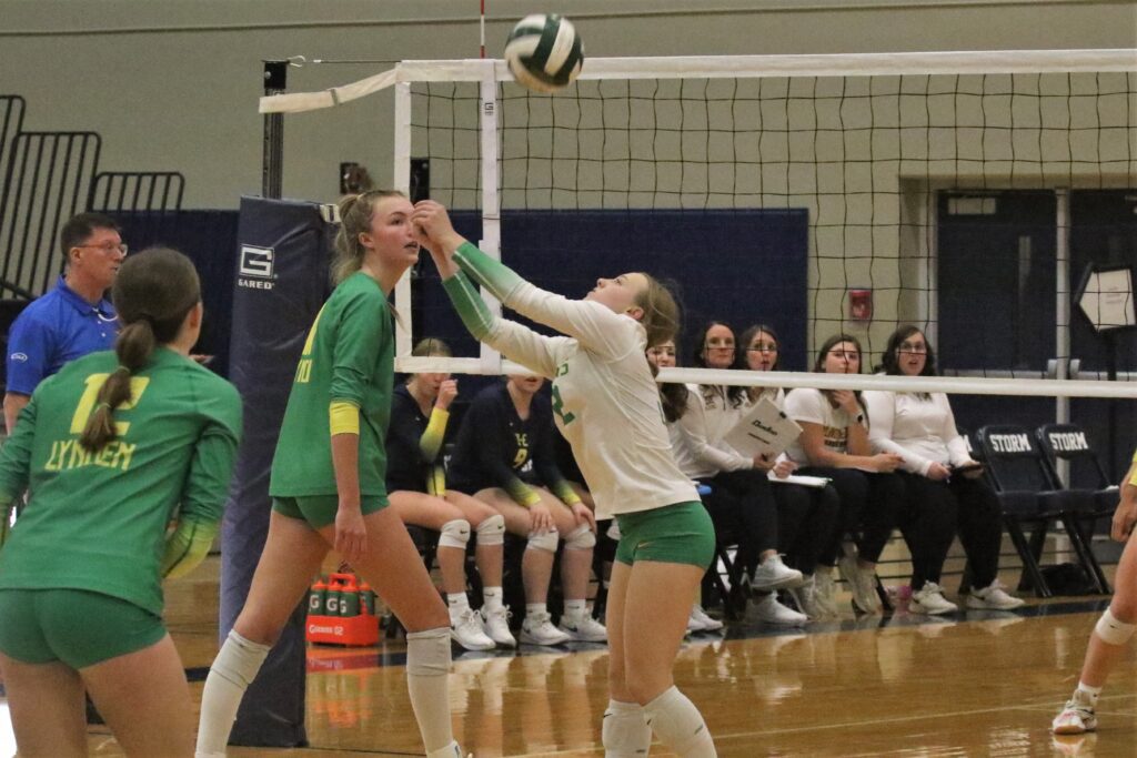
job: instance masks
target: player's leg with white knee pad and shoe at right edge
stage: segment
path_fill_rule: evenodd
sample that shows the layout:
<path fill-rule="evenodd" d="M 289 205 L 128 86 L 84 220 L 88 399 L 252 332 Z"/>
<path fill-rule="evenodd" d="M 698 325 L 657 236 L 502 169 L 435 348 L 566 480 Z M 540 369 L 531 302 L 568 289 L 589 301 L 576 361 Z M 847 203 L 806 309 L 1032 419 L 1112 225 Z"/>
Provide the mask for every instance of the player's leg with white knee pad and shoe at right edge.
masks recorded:
<path fill-rule="evenodd" d="M 1137 542 L 1130 536 L 1113 578 L 1113 599 L 1102 614 L 1086 649 L 1078 689 L 1054 719 L 1057 734 L 1080 734 L 1097 728 L 1094 708 L 1105 680 L 1137 630 Z"/>

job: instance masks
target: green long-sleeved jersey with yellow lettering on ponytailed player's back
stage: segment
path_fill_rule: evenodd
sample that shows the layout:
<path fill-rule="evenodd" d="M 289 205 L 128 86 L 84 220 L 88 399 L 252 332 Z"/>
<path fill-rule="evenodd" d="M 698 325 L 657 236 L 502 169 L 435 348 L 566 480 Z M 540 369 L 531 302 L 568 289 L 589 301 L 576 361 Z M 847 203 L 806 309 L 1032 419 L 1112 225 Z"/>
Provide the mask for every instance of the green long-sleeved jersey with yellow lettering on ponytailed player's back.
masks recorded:
<path fill-rule="evenodd" d="M 0 589 L 88 590 L 160 614 L 171 519 L 216 533 L 241 436 L 240 395 L 157 348 L 115 409 L 118 436 L 89 452 L 78 439 L 117 367 L 109 351 L 64 366 L 35 389 L 0 449 L 0 501 L 28 492 L 0 550 Z"/>

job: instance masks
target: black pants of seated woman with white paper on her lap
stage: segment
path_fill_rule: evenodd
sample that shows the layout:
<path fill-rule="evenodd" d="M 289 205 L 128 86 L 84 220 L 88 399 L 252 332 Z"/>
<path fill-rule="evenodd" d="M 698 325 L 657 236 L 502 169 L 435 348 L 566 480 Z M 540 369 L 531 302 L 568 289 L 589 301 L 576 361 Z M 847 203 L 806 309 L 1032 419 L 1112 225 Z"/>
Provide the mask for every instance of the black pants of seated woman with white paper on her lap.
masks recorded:
<path fill-rule="evenodd" d="M 787 564 L 803 574 L 813 574 L 837 528 L 841 507 L 837 490 L 800 484 L 771 486 L 778 503 L 778 550 L 786 553 Z"/>

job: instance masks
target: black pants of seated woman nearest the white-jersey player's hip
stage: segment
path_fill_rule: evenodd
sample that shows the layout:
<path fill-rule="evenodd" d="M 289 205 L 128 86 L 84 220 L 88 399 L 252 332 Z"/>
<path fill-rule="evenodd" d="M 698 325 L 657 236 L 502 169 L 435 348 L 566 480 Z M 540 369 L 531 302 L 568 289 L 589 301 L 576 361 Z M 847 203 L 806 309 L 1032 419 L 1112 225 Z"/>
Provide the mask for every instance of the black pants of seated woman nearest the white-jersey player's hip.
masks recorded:
<path fill-rule="evenodd" d="M 720 541 L 738 542 L 738 565 L 753 574 L 758 556 L 778 548 L 778 508 L 766 473 L 723 472 L 700 481 L 711 486 L 703 505 L 711 514 L 715 533 Z"/>

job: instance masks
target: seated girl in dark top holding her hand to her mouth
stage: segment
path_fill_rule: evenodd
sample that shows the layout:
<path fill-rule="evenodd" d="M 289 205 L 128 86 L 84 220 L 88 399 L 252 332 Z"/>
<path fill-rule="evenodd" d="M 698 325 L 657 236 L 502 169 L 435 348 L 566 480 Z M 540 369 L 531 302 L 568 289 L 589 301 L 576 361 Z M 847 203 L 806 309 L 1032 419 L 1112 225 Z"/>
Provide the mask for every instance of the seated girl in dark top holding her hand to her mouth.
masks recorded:
<path fill-rule="evenodd" d="M 410 351 L 417 357 L 450 357 L 441 340 L 426 338 Z M 446 488 L 439 452 L 446 439 L 450 402 L 458 383 L 449 374 L 412 374 L 395 388 L 387 430 L 387 491 L 404 524 L 439 532 L 438 565 L 450 611 L 450 634 L 466 650 L 495 644 L 514 648 L 509 611 L 501 593 L 505 519 L 490 506 Z M 478 533 L 475 556 L 482 577 L 481 614 L 466 597 L 466 547 L 471 527 Z"/>

